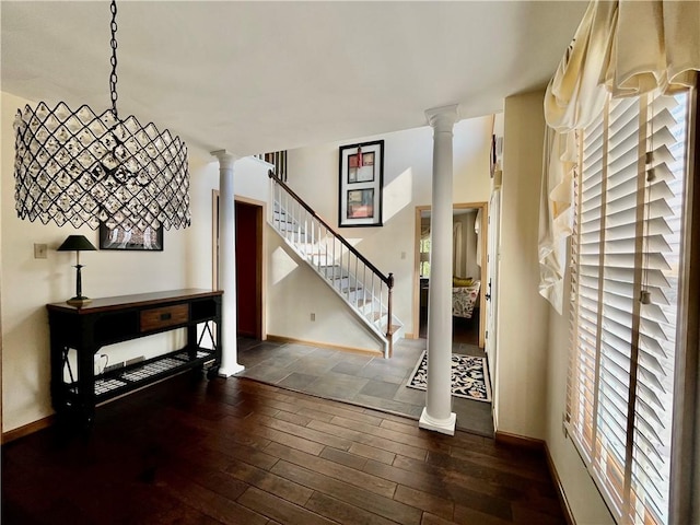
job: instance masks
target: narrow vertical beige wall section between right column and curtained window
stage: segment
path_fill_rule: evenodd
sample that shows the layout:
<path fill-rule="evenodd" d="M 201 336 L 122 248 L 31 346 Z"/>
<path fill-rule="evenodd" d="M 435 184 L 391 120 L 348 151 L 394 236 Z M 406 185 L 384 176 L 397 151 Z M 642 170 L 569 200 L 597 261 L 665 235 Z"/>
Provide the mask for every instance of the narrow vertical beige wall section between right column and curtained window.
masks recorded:
<path fill-rule="evenodd" d="M 537 291 L 542 95 L 505 100 L 494 406 L 499 430 L 537 439 L 547 396 L 547 310 Z"/>

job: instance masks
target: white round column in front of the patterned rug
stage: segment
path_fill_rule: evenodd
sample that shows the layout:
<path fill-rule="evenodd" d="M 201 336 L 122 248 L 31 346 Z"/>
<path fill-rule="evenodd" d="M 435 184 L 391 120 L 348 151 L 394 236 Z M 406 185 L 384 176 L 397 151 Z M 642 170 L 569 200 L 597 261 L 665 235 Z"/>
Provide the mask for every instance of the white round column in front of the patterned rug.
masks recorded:
<path fill-rule="evenodd" d="M 425 112 L 433 127 L 430 288 L 428 295 L 428 390 L 418 425 L 454 435 L 452 411 L 452 129 L 457 106 Z"/>

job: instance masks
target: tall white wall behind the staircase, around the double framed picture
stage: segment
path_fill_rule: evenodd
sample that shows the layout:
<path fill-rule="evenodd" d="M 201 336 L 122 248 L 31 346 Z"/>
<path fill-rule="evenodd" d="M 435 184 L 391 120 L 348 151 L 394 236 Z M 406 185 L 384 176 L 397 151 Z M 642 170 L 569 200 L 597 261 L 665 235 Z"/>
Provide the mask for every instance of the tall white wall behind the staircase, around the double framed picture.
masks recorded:
<path fill-rule="evenodd" d="M 289 185 L 330 225 L 338 224 L 338 148 L 343 144 L 384 140 L 384 226 L 345 228 L 337 231 L 349 240 L 380 270 L 393 272 L 395 314 L 406 326 L 407 334 L 418 331 L 412 326 L 413 253 L 416 207 L 431 203 L 432 128 L 384 133 L 375 137 L 349 139 L 290 151 Z M 454 133 L 454 201 L 483 202 L 490 194 L 489 148 L 491 117 L 463 120 Z M 285 293 L 302 296 L 303 281 L 292 284 Z M 316 292 L 314 292 L 316 293 Z M 330 292 L 332 293 L 332 292 Z M 308 310 L 313 304 L 304 304 Z M 275 305 L 269 307 L 276 308 Z M 290 313 L 291 314 L 291 313 Z M 293 314 L 292 314 L 293 315 Z M 350 314 L 343 316 L 350 318 Z M 282 329 L 269 315 L 269 331 Z M 339 319 L 336 319 L 340 323 Z M 295 318 L 295 329 L 314 334 L 317 340 L 331 340 L 338 331 L 350 332 L 345 325 L 319 328 L 310 322 L 308 312 Z M 362 348 L 362 347 L 360 347 Z"/>

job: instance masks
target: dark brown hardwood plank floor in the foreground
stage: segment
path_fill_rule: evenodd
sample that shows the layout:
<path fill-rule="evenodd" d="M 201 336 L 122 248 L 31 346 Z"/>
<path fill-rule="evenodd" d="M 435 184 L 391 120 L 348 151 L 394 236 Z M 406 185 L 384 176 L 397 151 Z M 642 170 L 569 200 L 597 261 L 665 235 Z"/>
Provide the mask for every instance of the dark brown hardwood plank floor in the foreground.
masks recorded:
<path fill-rule="evenodd" d="M 2 447 L 3 524 L 559 524 L 541 455 L 191 373 Z"/>

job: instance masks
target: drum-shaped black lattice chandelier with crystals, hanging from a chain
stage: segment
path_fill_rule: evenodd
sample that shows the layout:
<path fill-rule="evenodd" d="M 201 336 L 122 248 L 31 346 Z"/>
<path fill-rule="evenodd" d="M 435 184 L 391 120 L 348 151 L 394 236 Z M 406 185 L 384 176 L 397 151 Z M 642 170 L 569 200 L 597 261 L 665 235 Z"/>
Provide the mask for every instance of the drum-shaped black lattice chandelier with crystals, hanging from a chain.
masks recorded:
<path fill-rule="evenodd" d="M 117 4 L 112 0 L 112 108 L 54 109 L 40 102 L 18 110 L 15 209 L 20 219 L 96 230 L 190 224 L 187 148 L 153 122 L 117 114 Z"/>

